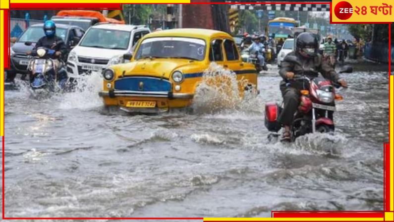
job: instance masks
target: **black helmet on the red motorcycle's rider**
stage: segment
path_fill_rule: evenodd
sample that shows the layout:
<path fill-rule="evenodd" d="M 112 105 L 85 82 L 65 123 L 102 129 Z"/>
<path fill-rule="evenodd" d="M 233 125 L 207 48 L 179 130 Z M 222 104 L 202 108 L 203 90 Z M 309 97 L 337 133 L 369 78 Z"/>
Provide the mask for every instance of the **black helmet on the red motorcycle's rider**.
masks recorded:
<path fill-rule="evenodd" d="M 317 55 L 319 42 L 315 35 L 309 32 L 303 32 L 295 40 L 295 51 L 304 57 L 314 57 Z"/>

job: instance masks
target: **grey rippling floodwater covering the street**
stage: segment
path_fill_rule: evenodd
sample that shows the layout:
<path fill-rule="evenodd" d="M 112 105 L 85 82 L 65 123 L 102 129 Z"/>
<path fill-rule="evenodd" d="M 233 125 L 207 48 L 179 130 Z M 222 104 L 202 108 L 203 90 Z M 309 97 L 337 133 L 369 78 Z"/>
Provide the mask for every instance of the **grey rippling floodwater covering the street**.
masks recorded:
<path fill-rule="evenodd" d="M 270 143 L 264 103 L 276 65 L 237 109 L 124 115 L 103 110 L 99 76 L 82 92 L 5 92 L 6 217 L 271 217 L 276 210 L 383 210 L 387 65 L 352 64 L 334 135 Z M 214 97 L 214 96 L 213 96 Z M 327 155 L 326 150 L 334 154 Z"/>

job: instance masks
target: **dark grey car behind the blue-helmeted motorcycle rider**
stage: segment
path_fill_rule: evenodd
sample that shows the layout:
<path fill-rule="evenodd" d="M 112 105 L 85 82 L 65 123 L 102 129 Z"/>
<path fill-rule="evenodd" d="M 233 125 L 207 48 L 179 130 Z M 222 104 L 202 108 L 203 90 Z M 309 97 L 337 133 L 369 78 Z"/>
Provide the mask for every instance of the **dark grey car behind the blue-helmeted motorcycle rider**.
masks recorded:
<path fill-rule="evenodd" d="M 37 41 L 44 36 L 43 27 L 44 24 L 31 25 L 19 38 L 11 39 L 15 42 L 9 50 L 11 67 L 7 71 L 8 73 L 28 74 L 29 59 L 26 53 L 31 51 Z M 71 50 L 78 43 L 83 34 L 84 30 L 78 26 L 56 24 L 56 35 L 63 39 L 68 50 Z M 62 55 L 62 59 L 66 60 L 67 54 Z"/>

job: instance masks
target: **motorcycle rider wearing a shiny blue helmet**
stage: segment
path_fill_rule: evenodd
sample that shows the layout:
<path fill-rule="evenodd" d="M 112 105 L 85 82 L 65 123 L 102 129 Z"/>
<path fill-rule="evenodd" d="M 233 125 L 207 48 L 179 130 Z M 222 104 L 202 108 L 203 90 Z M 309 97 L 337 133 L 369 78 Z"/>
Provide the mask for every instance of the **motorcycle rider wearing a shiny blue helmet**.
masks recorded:
<path fill-rule="evenodd" d="M 44 23 L 44 33 L 45 36 L 41 37 L 36 45 L 34 46 L 33 50 L 30 52 L 32 55 L 37 54 L 37 49 L 39 47 L 45 47 L 48 49 L 55 50 L 55 58 L 54 59 L 54 64 L 55 64 L 55 72 L 57 73 L 58 69 L 60 68 L 60 61 L 59 59 L 61 58 L 62 55 L 65 55 L 67 53 L 67 47 L 63 40 L 56 36 L 56 24 L 52 20 L 48 20 Z M 28 53 L 29 54 L 29 53 Z M 30 76 L 30 80 L 32 80 L 33 76 Z"/>

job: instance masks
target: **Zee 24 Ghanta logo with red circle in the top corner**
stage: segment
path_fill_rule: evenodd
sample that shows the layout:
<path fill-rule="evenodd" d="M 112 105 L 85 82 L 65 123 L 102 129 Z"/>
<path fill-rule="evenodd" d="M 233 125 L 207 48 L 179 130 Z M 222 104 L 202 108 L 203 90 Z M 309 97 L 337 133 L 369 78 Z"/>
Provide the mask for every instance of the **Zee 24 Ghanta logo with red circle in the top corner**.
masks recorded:
<path fill-rule="evenodd" d="M 366 15 L 367 13 L 372 13 L 374 15 L 378 15 L 379 13 L 383 15 L 391 15 L 392 14 L 392 5 L 387 3 L 382 3 L 382 5 L 371 5 L 369 6 L 369 11 L 367 6 L 353 6 L 347 1 L 340 1 L 337 5 L 335 5 L 334 13 L 337 18 L 340 20 L 349 19 L 353 12 L 357 15 Z"/>

